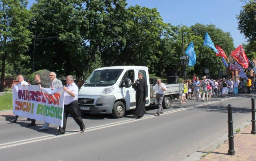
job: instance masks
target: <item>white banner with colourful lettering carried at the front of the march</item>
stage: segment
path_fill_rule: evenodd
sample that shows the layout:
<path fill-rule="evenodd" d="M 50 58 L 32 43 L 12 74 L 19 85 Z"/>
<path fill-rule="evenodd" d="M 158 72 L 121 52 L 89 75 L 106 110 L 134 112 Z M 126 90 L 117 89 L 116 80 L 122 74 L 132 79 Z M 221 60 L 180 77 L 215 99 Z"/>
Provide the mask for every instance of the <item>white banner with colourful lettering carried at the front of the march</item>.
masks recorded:
<path fill-rule="evenodd" d="M 38 85 L 13 86 L 13 114 L 63 126 L 64 90 Z"/>

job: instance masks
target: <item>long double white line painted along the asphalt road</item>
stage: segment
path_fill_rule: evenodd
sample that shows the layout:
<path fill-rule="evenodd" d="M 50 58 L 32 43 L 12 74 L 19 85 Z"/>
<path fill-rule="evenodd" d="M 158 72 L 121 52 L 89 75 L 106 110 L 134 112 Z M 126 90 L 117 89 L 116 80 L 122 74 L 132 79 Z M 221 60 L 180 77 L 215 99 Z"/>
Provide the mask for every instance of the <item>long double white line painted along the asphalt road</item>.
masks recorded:
<path fill-rule="evenodd" d="M 226 101 L 228 99 L 233 99 L 233 98 L 236 98 L 236 97 L 226 98 L 226 99 L 213 101 L 213 102 L 208 102 L 208 103 L 203 103 L 203 104 L 200 104 L 200 105 L 196 105 L 192 108 L 213 104 L 213 103 L 216 103 L 216 102 L 219 102 L 219 101 Z M 180 111 L 187 110 L 187 109 L 191 109 L 191 107 L 184 107 L 184 108 L 180 108 L 180 109 L 176 109 L 176 110 L 171 110 L 171 111 L 165 112 L 161 115 L 172 114 L 172 113 L 180 112 Z M 153 117 L 159 117 L 159 116 L 157 116 L 156 114 L 154 114 L 154 115 L 151 114 L 151 115 L 143 116 L 143 118 L 140 118 L 140 119 L 135 119 L 134 118 L 134 119 L 124 120 L 124 121 L 118 121 L 118 122 L 115 122 L 115 123 L 108 123 L 108 124 L 104 124 L 104 125 L 98 125 L 98 126 L 95 126 L 95 127 L 86 128 L 84 132 L 99 130 L 99 129 L 108 128 L 108 127 L 114 127 L 114 126 L 118 126 L 118 125 L 122 125 L 122 124 L 126 124 L 126 123 L 132 123 L 132 122 L 135 122 L 135 121 L 141 121 L 141 120 L 145 120 L 145 119 L 149 119 L 149 118 L 153 118 Z M 2 144 L 0 144 L 0 149 L 15 147 L 15 146 L 18 146 L 18 145 L 24 145 L 24 144 L 29 144 L 29 143 L 35 143 L 35 142 L 38 142 L 38 141 L 44 141 L 44 140 L 54 139 L 54 138 L 58 138 L 58 137 L 80 134 L 78 132 L 79 130 L 80 129 L 74 130 L 72 132 L 66 132 L 65 135 L 55 136 L 53 134 L 50 134 L 50 135 L 46 135 L 46 136 L 33 137 L 33 138 L 30 138 L 30 139 L 12 141 L 12 142 L 9 142 L 9 143 L 2 143 Z"/>

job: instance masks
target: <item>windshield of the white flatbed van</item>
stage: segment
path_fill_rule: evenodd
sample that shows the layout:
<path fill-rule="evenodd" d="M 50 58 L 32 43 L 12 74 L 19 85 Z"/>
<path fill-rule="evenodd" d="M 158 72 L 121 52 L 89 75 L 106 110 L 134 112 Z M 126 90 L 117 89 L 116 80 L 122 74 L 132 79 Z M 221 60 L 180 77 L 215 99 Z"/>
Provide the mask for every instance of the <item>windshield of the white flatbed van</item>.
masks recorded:
<path fill-rule="evenodd" d="M 124 69 L 105 69 L 93 71 L 83 86 L 111 86 L 118 80 Z"/>

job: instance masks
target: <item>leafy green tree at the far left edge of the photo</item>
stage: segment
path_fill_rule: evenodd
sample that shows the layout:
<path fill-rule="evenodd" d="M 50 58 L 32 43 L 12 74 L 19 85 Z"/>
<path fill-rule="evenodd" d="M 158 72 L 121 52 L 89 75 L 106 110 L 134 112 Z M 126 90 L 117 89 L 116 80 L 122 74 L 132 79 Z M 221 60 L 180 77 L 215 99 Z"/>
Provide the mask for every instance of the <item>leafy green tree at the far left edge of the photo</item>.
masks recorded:
<path fill-rule="evenodd" d="M 4 90 L 6 63 L 28 60 L 24 53 L 31 43 L 28 30 L 31 12 L 26 0 L 0 0 L 0 58 L 2 61 L 0 91 Z"/>

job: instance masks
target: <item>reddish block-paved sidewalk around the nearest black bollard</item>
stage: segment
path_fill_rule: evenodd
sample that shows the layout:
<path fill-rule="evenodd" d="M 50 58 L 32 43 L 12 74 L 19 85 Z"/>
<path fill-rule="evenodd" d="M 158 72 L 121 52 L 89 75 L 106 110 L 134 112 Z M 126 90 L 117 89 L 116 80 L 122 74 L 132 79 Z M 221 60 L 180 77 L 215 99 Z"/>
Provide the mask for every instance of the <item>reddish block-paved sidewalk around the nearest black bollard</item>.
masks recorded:
<path fill-rule="evenodd" d="M 256 134 L 251 134 L 252 125 L 248 125 L 234 137 L 235 155 L 228 155 L 228 140 L 207 154 L 200 161 L 256 161 Z"/>

